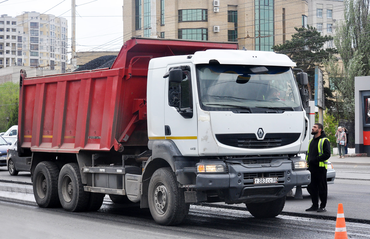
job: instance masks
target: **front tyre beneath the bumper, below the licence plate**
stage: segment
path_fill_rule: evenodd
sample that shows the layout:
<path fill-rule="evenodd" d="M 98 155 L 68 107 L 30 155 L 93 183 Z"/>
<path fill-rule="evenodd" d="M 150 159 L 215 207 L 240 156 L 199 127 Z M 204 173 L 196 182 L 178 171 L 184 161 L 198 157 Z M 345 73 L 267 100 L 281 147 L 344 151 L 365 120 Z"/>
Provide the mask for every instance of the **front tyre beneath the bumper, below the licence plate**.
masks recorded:
<path fill-rule="evenodd" d="M 285 200 L 286 195 L 270 202 L 245 203 L 245 205 L 255 218 L 274 218 L 283 211 Z"/>

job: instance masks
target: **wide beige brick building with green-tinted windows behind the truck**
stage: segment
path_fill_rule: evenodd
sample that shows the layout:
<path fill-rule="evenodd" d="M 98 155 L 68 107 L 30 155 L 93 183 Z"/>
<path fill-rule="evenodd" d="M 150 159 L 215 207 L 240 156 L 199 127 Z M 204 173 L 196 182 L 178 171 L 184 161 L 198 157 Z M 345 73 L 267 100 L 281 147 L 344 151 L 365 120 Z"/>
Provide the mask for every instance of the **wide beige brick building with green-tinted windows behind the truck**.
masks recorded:
<path fill-rule="evenodd" d="M 238 41 L 248 50 L 272 51 L 307 25 L 307 0 L 124 0 L 124 41 L 161 37 Z M 155 13 L 155 14 L 153 14 Z M 153 19 L 151 18 L 153 16 Z"/>

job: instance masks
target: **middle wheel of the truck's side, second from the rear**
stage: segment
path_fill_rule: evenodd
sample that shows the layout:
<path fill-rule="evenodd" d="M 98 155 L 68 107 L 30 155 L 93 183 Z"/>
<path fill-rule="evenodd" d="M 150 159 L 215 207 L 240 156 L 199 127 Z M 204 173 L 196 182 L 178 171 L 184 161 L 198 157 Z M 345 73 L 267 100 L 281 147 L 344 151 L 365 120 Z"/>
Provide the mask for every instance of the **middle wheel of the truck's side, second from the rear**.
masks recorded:
<path fill-rule="evenodd" d="M 84 191 L 78 164 L 65 164 L 60 169 L 58 193 L 65 211 L 79 212 L 88 207 L 89 193 Z"/>

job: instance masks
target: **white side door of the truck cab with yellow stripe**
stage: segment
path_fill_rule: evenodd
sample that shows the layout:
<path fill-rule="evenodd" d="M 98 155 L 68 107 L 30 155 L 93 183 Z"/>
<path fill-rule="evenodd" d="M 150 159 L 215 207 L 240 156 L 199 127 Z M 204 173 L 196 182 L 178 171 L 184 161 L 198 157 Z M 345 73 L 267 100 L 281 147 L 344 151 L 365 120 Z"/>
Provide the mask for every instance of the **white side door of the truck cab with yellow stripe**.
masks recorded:
<path fill-rule="evenodd" d="M 194 88 L 195 73 L 192 72 L 191 63 L 169 65 L 167 71 L 181 68 L 183 79 L 181 83 L 165 82 L 165 138 L 175 142 L 182 155 L 198 156 L 198 125 L 195 107 Z M 179 85 L 181 87 L 179 87 Z M 181 98 L 176 89 L 181 89 Z M 171 106 L 172 100 L 181 101 L 180 107 Z"/>

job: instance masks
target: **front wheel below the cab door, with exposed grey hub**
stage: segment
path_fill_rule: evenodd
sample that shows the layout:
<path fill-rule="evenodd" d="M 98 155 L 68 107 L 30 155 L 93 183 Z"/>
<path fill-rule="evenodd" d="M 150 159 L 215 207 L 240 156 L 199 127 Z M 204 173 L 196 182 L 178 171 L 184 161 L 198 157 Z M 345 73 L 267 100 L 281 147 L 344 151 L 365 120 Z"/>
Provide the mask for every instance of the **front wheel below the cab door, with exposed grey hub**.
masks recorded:
<path fill-rule="evenodd" d="M 161 225 L 178 225 L 189 213 L 184 191 L 178 188 L 171 168 L 160 168 L 149 182 L 149 209 L 155 222 Z"/>

